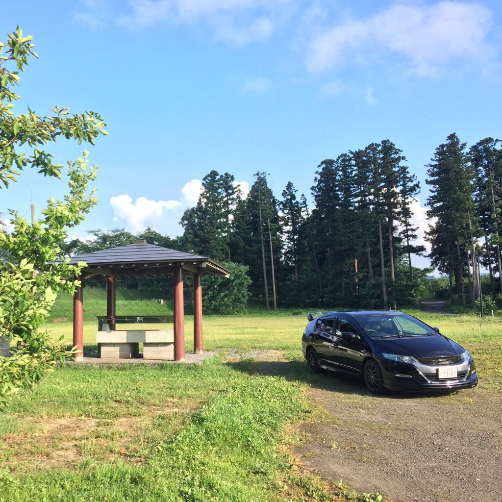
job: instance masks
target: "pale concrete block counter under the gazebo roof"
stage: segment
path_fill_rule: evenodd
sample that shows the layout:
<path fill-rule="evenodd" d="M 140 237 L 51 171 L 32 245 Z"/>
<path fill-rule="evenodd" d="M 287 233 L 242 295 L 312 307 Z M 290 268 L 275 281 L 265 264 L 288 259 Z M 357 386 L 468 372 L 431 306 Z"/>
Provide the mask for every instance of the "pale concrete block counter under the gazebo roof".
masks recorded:
<path fill-rule="evenodd" d="M 140 355 L 143 343 L 144 359 L 174 360 L 174 330 L 128 329 L 110 331 L 103 324 L 96 333 L 98 357 L 102 359 L 130 359 Z"/>

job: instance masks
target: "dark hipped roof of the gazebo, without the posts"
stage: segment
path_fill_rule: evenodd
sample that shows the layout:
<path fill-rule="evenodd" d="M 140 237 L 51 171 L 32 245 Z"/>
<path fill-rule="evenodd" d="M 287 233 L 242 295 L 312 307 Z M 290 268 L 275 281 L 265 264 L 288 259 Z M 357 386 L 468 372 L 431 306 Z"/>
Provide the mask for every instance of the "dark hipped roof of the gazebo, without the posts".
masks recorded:
<path fill-rule="evenodd" d="M 198 272 L 224 277 L 230 271 L 210 258 L 192 255 L 183 251 L 149 244 L 145 239 L 137 239 L 135 244 L 112 247 L 94 253 L 73 256 L 70 264 L 85 262 L 84 278 L 103 276 L 149 276 L 171 275 L 175 265 L 181 265 L 187 274 Z"/>

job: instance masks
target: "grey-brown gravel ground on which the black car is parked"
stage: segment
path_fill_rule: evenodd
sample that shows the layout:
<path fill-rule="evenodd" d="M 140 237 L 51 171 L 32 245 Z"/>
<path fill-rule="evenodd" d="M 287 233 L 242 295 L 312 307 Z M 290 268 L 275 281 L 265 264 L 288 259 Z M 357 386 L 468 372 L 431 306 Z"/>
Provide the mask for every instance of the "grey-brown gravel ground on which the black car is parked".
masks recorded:
<path fill-rule="evenodd" d="M 311 375 L 303 361 L 267 352 L 246 354 L 246 370 L 303 380 L 318 409 L 320 418 L 298 428 L 295 455 L 306 472 L 393 502 L 502 500 L 501 392 L 378 397 L 357 379 Z"/>

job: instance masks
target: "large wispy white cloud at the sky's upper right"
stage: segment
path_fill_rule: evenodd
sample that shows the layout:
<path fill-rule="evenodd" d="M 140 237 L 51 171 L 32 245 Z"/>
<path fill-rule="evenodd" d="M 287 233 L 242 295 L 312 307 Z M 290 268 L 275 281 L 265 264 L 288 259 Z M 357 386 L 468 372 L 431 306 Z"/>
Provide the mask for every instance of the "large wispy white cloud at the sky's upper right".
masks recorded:
<path fill-rule="evenodd" d="M 485 41 L 491 11 L 481 4 L 444 0 L 432 5 L 397 3 L 363 20 L 348 20 L 314 36 L 306 59 L 311 72 L 360 58 L 375 51 L 409 61 L 422 76 L 434 75 L 452 60 L 487 60 Z"/>

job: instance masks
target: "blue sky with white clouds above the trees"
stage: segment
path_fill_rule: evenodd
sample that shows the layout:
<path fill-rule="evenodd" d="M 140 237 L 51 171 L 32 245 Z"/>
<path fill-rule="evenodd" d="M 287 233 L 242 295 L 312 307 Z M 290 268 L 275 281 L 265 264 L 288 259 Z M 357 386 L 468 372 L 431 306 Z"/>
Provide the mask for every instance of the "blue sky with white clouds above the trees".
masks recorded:
<path fill-rule="evenodd" d="M 501 11 L 495 0 L 28 0 L 2 6 L 0 40 L 20 25 L 40 56 L 16 111 L 71 105 L 107 123 L 89 148 L 99 204 L 74 235 L 180 234 L 212 169 L 244 187 L 265 171 L 277 197 L 292 181 L 310 199 L 322 160 L 383 139 L 421 182 L 423 222 L 435 148 L 452 132 L 468 146 L 500 136 Z M 60 162 L 82 151 L 51 149 Z M 0 212 L 64 191 L 26 171 Z"/>

